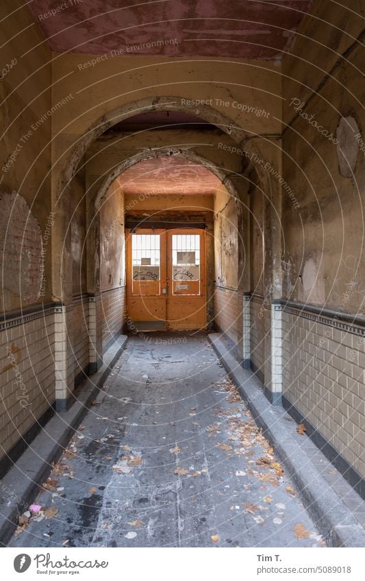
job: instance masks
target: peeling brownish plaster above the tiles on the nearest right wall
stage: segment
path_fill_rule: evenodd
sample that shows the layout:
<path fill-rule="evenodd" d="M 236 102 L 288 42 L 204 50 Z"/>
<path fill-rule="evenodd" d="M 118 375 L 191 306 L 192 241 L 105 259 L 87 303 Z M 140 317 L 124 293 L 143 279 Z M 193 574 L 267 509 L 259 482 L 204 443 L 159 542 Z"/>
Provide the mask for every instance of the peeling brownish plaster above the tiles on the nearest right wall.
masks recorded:
<path fill-rule="evenodd" d="M 362 8 L 365 9 L 364 2 Z M 338 8 L 333 8 L 333 12 L 338 14 Z M 352 22 L 349 14 L 350 11 L 347 11 L 345 29 Z M 322 27 L 320 31 L 322 33 Z M 357 34 L 355 26 L 350 31 L 354 36 Z M 331 46 L 336 46 L 340 34 L 342 26 L 341 30 L 333 31 Z M 340 48 L 343 42 L 342 38 Z M 349 62 L 338 60 L 331 77 L 325 79 L 318 94 L 314 94 L 307 105 L 304 102 L 301 104 L 300 99 L 297 112 L 290 107 L 290 101 L 299 92 L 294 91 L 292 82 L 284 80 L 284 96 L 287 99 L 284 117 L 295 114 L 291 126 L 284 133 L 284 177 L 300 204 L 299 208 L 295 208 L 283 193 L 283 249 L 287 263 L 284 296 L 330 309 L 342 305 L 344 312 L 364 314 L 362 238 L 365 152 L 357 144 L 353 129 L 358 127 L 360 137 L 365 141 L 364 107 L 355 98 L 355 95 L 364 92 L 364 80 L 357 70 L 364 63 L 364 51 L 359 44 L 347 55 L 347 59 Z M 325 55 L 319 60 L 317 57 L 316 64 L 328 66 Z M 286 75 L 299 80 L 304 72 L 309 76 L 314 69 L 310 64 L 305 66 L 292 58 L 284 58 L 283 66 Z M 341 116 L 350 117 L 356 122 L 349 125 L 347 139 L 342 138 L 342 147 L 348 153 L 349 162 L 353 159 L 354 148 L 357 152 L 355 164 L 352 164 L 353 177 L 341 174 L 343 160 L 338 157 L 336 143 L 310 125 L 303 114 L 314 115 L 318 125 L 328 130 L 333 138 L 340 136 L 336 130 Z M 340 133 L 343 133 L 343 120 L 341 126 Z M 349 288 L 351 292 L 347 298 Z"/>

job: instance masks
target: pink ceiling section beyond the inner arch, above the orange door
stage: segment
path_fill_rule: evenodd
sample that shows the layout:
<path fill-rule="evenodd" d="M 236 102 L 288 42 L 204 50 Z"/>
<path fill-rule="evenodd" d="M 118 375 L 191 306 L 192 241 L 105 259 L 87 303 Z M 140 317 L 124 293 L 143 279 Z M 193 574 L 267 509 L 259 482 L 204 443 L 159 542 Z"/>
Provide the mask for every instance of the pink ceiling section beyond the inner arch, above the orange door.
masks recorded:
<path fill-rule="evenodd" d="M 221 185 L 210 170 L 180 155 L 145 159 L 125 170 L 118 182 L 126 194 L 214 194 Z"/>

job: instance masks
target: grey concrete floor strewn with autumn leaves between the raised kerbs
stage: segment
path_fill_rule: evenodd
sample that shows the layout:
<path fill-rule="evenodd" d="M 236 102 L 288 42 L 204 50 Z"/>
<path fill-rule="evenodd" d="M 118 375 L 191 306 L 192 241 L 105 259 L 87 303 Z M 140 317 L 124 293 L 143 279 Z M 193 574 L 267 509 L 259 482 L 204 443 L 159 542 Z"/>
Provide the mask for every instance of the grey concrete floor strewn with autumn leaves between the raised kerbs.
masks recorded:
<path fill-rule="evenodd" d="M 131 336 L 47 487 L 10 546 L 324 546 L 203 333 Z"/>

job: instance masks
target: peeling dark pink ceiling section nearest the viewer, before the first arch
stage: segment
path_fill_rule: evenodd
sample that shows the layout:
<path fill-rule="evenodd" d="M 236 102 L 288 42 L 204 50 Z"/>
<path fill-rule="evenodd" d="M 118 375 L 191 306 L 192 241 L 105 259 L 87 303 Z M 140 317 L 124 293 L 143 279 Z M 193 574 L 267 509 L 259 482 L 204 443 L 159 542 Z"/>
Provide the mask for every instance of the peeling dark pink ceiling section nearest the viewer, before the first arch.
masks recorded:
<path fill-rule="evenodd" d="M 273 59 L 290 44 L 310 3 L 33 0 L 28 5 L 54 51 Z"/>

